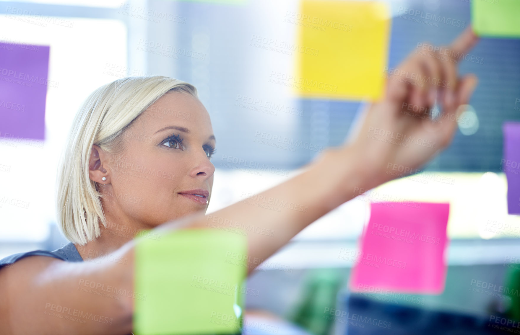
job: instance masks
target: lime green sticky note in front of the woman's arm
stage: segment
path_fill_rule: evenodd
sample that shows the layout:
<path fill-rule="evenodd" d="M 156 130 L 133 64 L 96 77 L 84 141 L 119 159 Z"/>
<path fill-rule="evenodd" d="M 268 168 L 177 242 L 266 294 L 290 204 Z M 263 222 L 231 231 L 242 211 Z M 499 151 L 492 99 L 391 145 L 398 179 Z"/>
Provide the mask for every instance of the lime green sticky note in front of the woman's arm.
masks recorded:
<path fill-rule="evenodd" d="M 136 239 L 134 334 L 238 333 L 246 253 L 245 236 L 214 229 Z"/>

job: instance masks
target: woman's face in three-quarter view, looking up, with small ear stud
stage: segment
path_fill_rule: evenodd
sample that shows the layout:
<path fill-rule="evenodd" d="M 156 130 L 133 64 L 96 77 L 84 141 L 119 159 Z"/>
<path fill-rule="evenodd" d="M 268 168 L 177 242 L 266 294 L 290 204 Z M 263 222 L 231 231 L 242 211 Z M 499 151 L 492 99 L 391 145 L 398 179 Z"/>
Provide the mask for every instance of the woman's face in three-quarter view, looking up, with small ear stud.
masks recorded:
<path fill-rule="evenodd" d="M 112 219 L 123 216 L 124 221 L 156 226 L 205 213 L 215 172 L 210 162 L 215 137 L 210 115 L 197 98 L 166 93 L 122 139 L 123 151 L 109 156 L 110 185 L 105 186 L 109 201 L 103 205 Z"/>

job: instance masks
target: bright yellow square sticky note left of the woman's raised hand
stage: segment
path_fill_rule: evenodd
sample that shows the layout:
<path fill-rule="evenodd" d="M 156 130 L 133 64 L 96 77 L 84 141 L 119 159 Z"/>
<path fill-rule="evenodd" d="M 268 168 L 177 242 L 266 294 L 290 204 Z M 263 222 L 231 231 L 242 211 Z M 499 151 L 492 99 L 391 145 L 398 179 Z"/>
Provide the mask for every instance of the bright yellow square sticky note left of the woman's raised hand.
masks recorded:
<path fill-rule="evenodd" d="M 384 89 L 391 15 L 371 1 L 303 0 L 285 16 L 298 25 L 294 91 L 307 98 L 377 100 Z"/>

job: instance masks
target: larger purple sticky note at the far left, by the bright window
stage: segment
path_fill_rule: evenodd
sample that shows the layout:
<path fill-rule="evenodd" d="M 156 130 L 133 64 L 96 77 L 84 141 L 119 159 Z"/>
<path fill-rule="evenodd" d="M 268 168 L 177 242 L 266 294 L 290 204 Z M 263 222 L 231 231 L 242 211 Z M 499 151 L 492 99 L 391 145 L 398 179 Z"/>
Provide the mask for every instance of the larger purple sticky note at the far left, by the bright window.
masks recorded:
<path fill-rule="evenodd" d="M 45 139 L 49 47 L 0 43 L 0 137 Z"/>

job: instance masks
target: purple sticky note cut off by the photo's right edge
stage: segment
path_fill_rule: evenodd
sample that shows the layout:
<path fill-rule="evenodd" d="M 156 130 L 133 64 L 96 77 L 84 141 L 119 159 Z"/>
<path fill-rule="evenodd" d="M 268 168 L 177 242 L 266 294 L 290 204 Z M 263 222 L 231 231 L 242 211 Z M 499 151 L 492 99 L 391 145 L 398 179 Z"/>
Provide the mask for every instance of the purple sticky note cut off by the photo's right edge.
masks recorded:
<path fill-rule="evenodd" d="M 520 214 L 520 122 L 505 122 L 502 171 L 508 179 L 508 212 Z"/>

